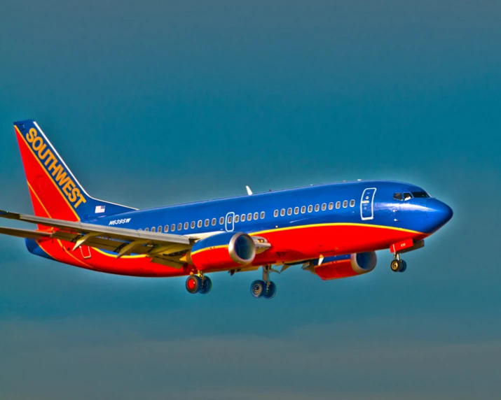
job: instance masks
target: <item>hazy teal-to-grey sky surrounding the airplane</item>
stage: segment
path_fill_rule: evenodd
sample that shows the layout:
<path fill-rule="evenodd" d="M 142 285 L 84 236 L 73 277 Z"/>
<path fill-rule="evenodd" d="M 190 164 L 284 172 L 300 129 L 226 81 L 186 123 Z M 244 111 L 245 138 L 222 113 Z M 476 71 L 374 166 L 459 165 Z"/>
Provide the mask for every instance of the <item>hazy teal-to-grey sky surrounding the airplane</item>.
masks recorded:
<path fill-rule="evenodd" d="M 146 208 L 338 180 L 455 211 L 406 255 L 109 276 L 0 237 L 0 399 L 472 399 L 501 391 L 499 1 L 4 1 L 0 207 L 32 213 L 12 122 L 95 197 Z M 20 226 L 1 221 L 7 226 Z"/>

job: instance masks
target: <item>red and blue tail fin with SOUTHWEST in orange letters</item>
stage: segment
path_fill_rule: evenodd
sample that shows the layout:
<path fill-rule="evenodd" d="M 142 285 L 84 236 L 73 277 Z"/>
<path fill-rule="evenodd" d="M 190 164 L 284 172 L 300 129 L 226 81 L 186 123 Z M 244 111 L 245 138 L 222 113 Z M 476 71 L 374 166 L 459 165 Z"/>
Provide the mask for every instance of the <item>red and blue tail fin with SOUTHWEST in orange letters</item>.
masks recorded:
<path fill-rule="evenodd" d="M 14 127 L 35 215 L 79 221 L 135 209 L 90 197 L 34 120 Z"/>

